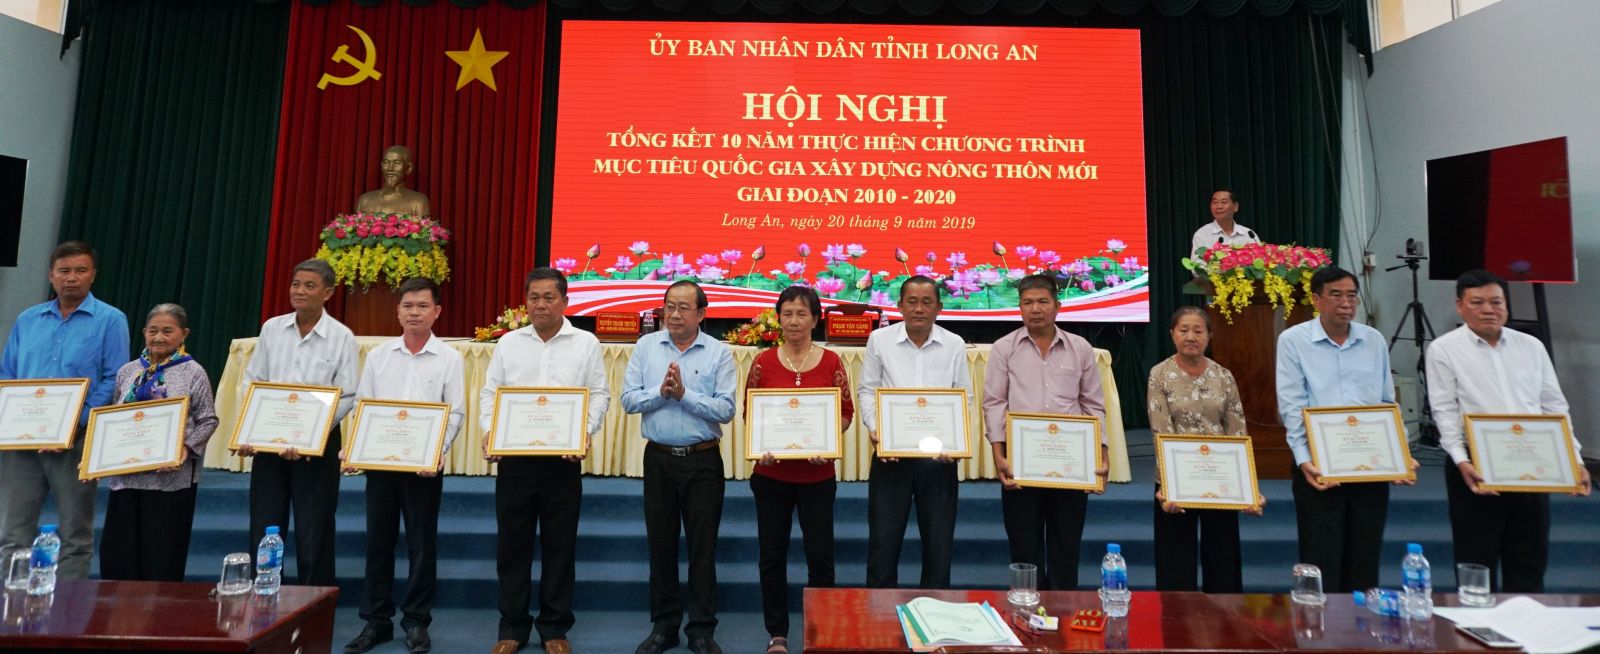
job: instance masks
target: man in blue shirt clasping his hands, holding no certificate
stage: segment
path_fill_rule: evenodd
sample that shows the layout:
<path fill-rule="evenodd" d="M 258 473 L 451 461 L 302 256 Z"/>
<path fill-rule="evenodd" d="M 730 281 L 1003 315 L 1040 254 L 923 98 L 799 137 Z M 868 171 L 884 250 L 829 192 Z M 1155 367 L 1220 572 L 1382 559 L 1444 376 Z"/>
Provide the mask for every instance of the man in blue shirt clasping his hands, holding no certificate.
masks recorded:
<path fill-rule="evenodd" d="M 717 632 L 717 528 L 722 523 L 722 425 L 733 419 L 738 368 L 722 341 L 699 331 L 706 291 L 683 280 L 667 288 L 666 333 L 634 345 L 622 409 L 643 414 L 645 537 L 650 542 L 650 638 L 635 654 L 678 644 L 678 524 L 690 558 L 690 651 L 722 654 Z"/>

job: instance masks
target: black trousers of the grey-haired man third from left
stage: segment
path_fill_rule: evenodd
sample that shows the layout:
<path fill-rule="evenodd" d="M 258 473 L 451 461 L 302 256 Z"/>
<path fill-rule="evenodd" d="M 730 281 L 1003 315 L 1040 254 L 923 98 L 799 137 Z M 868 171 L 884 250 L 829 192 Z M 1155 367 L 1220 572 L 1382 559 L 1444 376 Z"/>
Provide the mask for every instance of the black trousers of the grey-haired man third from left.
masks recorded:
<path fill-rule="evenodd" d="M 339 508 L 339 425 L 328 435 L 322 456 L 288 461 L 277 454 L 256 454 L 250 469 L 250 548 L 277 524 L 280 534 L 294 536 L 294 572 L 299 585 L 338 585 L 333 574 L 333 515 Z M 290 510 L 294 529 L 290 529 Z M 283 536 L 288 544 L 288 536 Z M 285 566 L 286 568 L 286 566 Z M 286 569 L 285 569 L 286 572 Z M 288 574 L 285 574 L 286 580 Z"/>

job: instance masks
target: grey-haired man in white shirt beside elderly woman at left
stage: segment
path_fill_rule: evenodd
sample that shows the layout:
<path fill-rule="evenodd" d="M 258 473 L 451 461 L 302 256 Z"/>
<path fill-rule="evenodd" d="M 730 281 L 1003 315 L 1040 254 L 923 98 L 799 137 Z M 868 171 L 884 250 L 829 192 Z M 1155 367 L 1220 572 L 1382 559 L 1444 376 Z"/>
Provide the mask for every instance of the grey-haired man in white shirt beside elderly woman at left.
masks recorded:
<path fill-rule="evenodd" d="M 256 353 L 238 381 L 243 397 L 251 382 L 331 385 L 339 389 L 333 432 L 322 453 L 286 449 L 256 454 L 240 446 L 240 456 L 254 456 L 250 470 L 250 552 L 256 550 L 269 524 L 288 528 L 294 510 L 294 571 L 302 585 L 338 585 L 333 574 L 333 515 L 339 505 L 339 451 L 344 438 L 339 421 L 355 405 L 355 334 L 323 310 L 333 297 L 333 265 L 306 259 L 294 265 L 290 280 L 293 313 L 261 325 Z M 320 454 L 320 456 L 318 456 Z"/>

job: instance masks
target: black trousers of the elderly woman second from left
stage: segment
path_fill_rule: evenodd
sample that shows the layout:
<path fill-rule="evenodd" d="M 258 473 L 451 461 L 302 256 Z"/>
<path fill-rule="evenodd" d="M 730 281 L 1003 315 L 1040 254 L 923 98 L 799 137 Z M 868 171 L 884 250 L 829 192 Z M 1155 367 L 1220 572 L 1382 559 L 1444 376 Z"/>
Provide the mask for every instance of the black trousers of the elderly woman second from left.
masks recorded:
<path fill-rule="evenodd" d="M 101 529 L 101 579 L 181 582 L 195 521 L 195 486 L 110 491 Z"/>

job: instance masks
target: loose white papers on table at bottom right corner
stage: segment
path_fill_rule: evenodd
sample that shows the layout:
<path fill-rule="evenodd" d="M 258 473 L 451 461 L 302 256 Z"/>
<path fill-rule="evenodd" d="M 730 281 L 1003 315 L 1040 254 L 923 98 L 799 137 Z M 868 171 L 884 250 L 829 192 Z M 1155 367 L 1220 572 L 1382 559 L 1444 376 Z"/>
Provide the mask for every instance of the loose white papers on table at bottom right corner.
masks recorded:
<path fill-rule="evenodd" d="M 1517 641 L 1528 654 L 1565 654 L 1600 644 L 1600 608 L 1550 608 L 1517 596 L 1493 609 L 1435 608 L 1462 627 L 1488 627 Z"/>

